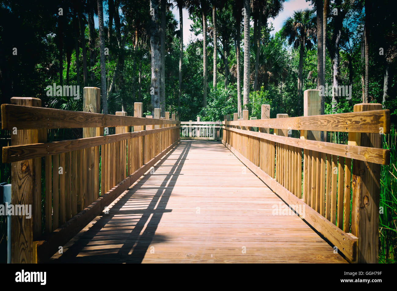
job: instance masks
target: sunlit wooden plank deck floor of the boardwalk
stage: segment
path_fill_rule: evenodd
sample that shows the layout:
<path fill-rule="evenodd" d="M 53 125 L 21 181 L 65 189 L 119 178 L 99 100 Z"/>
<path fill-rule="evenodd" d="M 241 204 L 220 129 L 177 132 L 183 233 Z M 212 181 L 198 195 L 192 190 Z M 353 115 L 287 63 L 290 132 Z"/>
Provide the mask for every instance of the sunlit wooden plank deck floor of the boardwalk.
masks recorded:
<path fill-rule="evenodd" d="M 181 141 L 52 262 L 346 263 L 222 143 Z"/>

